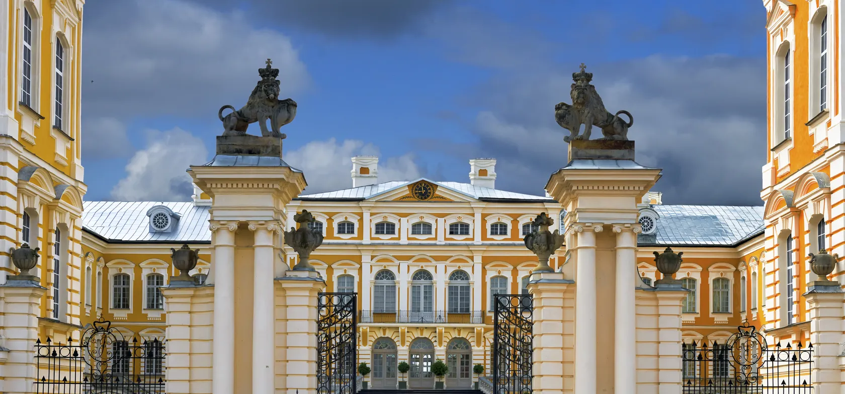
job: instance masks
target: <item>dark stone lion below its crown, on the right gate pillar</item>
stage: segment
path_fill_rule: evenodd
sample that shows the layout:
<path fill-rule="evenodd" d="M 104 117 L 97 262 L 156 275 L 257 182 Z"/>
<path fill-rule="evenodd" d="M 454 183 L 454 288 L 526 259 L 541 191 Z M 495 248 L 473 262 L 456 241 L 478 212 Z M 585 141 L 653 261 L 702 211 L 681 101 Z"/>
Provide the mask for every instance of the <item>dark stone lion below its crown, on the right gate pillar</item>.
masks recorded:
<path fill-rule="evenodd" d="M 569 143 L 574 139 L 590 139 L 592 127 L 601 127 L 603 138 L 612 140 L 628 140 L 628 128 L 634 125 L 634 117 L 628 111 L 617 111 L 615 115 L 604 109 L 602 98 L 590 84 L 572 84 L 572 105 L 559 103 L 554 106 L 554 119 L 560 127 L 570 131 L 564 141 Z M 628 121 L 619 117 L 628 116 Z M 581 132 L 584 125 L 584 133 Z"/>

